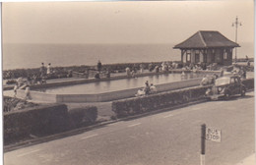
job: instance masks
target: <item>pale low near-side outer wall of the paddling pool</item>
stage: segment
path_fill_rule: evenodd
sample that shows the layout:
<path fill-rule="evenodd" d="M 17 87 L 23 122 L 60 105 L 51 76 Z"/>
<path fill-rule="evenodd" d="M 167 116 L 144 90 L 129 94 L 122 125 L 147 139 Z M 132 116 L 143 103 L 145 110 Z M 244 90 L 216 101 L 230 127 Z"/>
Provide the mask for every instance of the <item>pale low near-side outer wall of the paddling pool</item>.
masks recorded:
<path fill-rule="evenodd" d="M 199 85 L 202 78 L 185 80 L 173 83 L 157 84 L 158 91 L 167 91 L 172 89 L 191 87 Z M 116 90 L 102 92 L 96 94 L 51 94 L 31 90 L 31 99 L 39 102 L 104 102 L 116 99 L 133 97 L 142 87 L 129 88 L 124 90 Z M 25 90 L 17 90 L 17 97 L 25 98 Z"/>

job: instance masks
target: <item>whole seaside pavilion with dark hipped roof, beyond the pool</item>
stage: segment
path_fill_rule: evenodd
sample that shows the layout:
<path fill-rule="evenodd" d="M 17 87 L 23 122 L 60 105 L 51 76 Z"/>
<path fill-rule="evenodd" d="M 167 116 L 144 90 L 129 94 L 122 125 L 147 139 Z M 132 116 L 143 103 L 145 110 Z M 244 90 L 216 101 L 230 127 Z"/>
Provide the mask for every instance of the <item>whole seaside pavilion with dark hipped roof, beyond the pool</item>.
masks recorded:
<path fill-rule="evenodd" d="M 181 62 L 187 64 L 232 64 L 232 49 L 240 47 L 219 31 L 199 30 L 188 39 L 175 45 L 181 50 Z"/>

